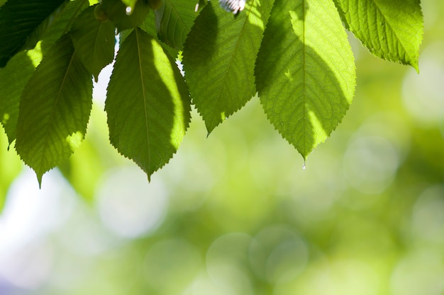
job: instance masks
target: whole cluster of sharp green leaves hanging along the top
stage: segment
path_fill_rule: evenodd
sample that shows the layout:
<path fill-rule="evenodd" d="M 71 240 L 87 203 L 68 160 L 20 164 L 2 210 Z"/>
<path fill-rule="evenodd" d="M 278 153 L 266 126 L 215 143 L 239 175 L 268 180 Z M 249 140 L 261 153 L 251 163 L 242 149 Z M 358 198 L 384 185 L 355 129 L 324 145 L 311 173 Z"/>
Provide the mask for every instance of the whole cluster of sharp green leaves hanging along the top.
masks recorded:
<path fill-rule="evenodd" d="M 417 71 L 423 35 L 419 0 L 250 0 L 236 14 L 216 0 L 4 2 L 0 121 L 39 183 L 81 144 L 91 77 L 113 60 L 109 139 L 150 178 L 179 148 L 192 105 L 210 133 L 255 93 L 306 159 L 352 103 L 346 30 Z"/>

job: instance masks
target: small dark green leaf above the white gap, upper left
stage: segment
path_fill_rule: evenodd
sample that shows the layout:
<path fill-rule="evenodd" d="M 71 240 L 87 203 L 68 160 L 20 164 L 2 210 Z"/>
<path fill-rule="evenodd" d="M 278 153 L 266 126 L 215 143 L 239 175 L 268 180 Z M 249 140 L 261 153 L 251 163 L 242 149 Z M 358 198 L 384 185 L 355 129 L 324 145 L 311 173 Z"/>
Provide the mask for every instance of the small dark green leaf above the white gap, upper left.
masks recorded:
<path fill-rule="evenodd" d="M 70 34 L 77 56 L 97 81 L 101 69 L 113 62 L 116 28 L 110 21 L 97 21 L 95 7 L 89 6 L 80 14 Z"/>

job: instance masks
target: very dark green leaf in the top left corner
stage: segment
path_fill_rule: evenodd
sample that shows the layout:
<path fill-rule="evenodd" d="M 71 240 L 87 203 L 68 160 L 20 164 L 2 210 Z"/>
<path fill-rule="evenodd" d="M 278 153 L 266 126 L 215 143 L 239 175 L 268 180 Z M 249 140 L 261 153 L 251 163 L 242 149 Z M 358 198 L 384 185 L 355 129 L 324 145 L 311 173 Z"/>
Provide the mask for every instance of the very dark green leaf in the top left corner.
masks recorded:
<path fill-rule="evenodd" d="M 45 29 L 40 27 L 65 0 L 10 0 L 0 8 L 0 68 L 17 52 L 33 48 Z M 5 42 L 5 40 L 8 40 Z M 32 40 L 32 42 L 30 42 Z M 23 48 L 26 47 L 26 48 Z"/>

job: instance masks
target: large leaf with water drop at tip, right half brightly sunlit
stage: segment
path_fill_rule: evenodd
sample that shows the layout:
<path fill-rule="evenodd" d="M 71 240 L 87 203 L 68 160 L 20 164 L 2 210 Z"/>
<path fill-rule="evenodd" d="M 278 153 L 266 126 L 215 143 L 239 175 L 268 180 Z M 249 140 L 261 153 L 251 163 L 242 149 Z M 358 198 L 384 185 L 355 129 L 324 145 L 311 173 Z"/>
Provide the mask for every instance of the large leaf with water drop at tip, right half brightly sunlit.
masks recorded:
<path fill-rule="evenodd" d="M 353 53 L 331 0 L 276 1 L 255 73 L 268 119 L 306 159 L 355 90 Z"/>

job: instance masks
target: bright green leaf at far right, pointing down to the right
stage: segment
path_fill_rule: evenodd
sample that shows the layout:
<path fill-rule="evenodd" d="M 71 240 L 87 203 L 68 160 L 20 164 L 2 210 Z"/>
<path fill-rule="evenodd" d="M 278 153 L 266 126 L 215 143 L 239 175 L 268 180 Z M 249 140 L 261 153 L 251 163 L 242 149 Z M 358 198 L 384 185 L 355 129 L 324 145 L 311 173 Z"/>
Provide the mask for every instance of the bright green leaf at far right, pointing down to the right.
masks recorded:
<path fill-rule="evenodd" d="M 347 28 L 372 54 L 418 71 L 420 0 L 333 0 Z"/>

